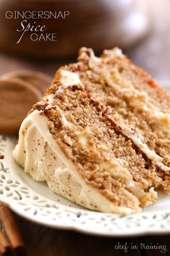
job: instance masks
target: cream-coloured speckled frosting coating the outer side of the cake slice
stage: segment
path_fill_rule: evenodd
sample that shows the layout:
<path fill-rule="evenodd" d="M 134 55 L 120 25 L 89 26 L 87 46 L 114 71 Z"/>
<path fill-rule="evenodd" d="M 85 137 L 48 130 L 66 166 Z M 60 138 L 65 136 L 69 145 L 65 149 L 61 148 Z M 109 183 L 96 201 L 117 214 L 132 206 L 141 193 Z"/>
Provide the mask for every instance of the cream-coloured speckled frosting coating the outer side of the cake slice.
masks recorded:
<path fill-rule="evenodd" d="M 48 119 L 41 111 L 35 110 L 24 119 L 13 156 L 35 181 L 47 181 L 53 192 L 86 208 L 120 214 L 141 210 L 114 205 L 97 189 L 86 184 L 53 140 L 48 128 Z"/>

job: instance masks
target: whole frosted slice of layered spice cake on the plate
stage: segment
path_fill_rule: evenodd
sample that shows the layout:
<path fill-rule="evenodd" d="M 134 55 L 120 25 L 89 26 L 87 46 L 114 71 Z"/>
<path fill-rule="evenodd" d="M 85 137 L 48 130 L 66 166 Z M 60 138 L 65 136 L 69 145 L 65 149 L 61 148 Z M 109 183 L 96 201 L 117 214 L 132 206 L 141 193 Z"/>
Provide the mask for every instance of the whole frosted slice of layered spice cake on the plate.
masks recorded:
<path fill-rule="evenodd" d="M 170 189 L 169 105 L 120 49 L 97 58 L 82 48 L 22 122 L 13 155 L 33 179 L 79 205 L 137 213 L 156 189 Z"/>

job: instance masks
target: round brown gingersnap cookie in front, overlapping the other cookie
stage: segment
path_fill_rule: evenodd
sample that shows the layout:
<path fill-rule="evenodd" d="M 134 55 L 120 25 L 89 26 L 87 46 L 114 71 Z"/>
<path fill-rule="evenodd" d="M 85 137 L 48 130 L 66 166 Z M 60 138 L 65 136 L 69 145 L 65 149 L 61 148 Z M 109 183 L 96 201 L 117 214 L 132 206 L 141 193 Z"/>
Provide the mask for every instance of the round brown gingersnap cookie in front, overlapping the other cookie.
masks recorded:
<path fill-rule="evenodd" d="M 29 82 L 0 80 L 0 134 L 17 135 L 22 120 L 42 93 Z"/>

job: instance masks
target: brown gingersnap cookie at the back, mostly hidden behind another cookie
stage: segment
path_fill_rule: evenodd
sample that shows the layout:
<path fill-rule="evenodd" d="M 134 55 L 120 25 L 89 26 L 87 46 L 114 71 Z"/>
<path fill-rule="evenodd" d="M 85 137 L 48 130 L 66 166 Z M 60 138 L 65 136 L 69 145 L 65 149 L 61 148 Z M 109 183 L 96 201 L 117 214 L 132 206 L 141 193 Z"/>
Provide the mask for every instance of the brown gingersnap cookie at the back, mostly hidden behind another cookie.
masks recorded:
<path fill-rule="evenodd" d="M 7 74 L 2 75 L 0 78 L 10 79 L 17 78 L 20 80 L 24 80 L 26 82 L 30 82 L 35 86 L 42 94 L 45 93 L 50 83 L 53 80 L 53 77 L 50 77 L 48 74 L 44 74 L 42 72 L 34 72 L 30 70 L 17 70 L 14 72 L 9 72 Z"/>

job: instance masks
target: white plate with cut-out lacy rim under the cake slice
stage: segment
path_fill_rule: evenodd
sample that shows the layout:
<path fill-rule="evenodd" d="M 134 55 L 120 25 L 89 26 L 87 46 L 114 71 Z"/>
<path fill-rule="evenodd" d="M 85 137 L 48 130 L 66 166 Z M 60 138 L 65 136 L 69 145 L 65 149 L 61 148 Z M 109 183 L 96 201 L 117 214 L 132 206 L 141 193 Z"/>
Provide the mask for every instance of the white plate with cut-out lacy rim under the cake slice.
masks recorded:
<path fill-rule="evenodd" d="M 170 93 L 170 81 L 160 82 Z M 53 194 L 45 182 L 35 182 L 14 162 L 14 137 L 0 136 L 0 200 L 15 213 L 45 226 L 103 236 L 134 236 L 170 232 L 170 195 L 142 213 L 117 216 L 98 213 Z"/>

